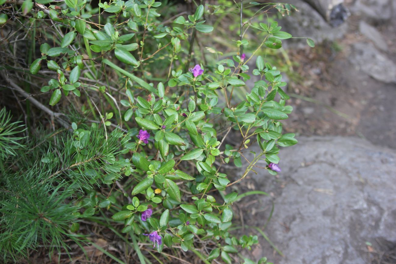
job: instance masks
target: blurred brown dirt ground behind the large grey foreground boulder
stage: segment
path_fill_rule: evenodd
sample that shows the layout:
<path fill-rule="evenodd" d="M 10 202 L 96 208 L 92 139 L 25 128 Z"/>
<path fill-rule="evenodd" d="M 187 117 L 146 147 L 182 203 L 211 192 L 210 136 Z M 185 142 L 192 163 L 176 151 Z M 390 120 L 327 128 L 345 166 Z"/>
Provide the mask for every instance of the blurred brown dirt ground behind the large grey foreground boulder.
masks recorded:
<path fill-rule="evenodd" d="M 358 30 L 360 17 L 348 18 L 345 38 L 314 49 L 291 51 L 297 61 L 289 93 L 294 108 L 284 123 L 297 135 L 357 135 L 374 144 L 396 148 L 396 84 L 379 82 L 350 62 L 352 45 L 369 42 Z M 396 25 L 377 27 L 388 44 L 386 57 L 396 61 Z M 395 73 L 396 74 L 396 73 Z"/>

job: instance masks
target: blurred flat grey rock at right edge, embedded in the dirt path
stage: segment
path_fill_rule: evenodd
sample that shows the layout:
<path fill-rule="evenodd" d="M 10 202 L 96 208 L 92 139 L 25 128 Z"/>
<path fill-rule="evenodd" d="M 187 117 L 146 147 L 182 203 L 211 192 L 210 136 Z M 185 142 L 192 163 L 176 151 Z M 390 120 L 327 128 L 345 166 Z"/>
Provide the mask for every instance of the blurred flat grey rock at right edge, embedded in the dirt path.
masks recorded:
<path fill-rule="evenodd" d="M 375 80 L 384 83 L 396 82 L 396 65 L 385 57 L 373 44 L 358 42 L 352 45 L 350 62 Z"/>

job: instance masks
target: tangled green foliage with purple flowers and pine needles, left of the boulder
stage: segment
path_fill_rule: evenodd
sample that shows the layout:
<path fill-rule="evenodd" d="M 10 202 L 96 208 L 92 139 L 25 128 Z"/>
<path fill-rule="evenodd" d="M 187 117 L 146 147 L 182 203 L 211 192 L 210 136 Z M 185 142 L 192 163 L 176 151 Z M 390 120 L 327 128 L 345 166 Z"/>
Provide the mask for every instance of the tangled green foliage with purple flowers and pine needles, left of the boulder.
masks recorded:
<path fill-rule="evenodd" d="M 87 238 L 94 223 L 122 241 L 120 255 L 136 252 L 141 263 L 154 263 L 160 253 L 187 256 L 177 251 L 205 263 L 239 263 L 238 253 L 258 243 L 260 234 L 232 232 L 238 228 L 233 204 L 246 195 L 230 186 L 248 173 L 264 181 L 281 172 L 280 147 L 297 143 L 283 132 L 282 120 L 292 111 L 286 82 L 265 57 L 291 35 L 255 17 L 269 10 L 287 15 L 294 7 L 231 3 L 240 28 L 230 32 L 232 54 L 216 60 L 214 49 L 209 59 L 194 45 L 215 36 L 208 18 L 218 18 L 218 6 L 199 5 L 194 13 L 165 19 L 167 7 L 154 0 L 99 2 L 97 8 L 85 0 L 0 2 L 8 10 L 21 8 L 14 15 L 45 36 L 36 39 L 39 51 L 29 67 L 7 66 L 1 76 L 51 120 L 45 126 L 50 132 L 15 137 L 1 155 L 4 259 L 27 257 L 39 245 L 50 251 L 70 249 L 70 243 L 101 248 Z M 245 17 L 245 9 L 253 15 Z M 4 18 L 7 28 L 12 21 Z M 250 44 L 247 31 L 260 42 Z M 26 91 L 23 78 L 34 84 Z M 252 144 L 259 151 L 247 158 Z M 256 171 L 260 160 L 267 165 Z M 227 175 L 225 164 L 244 170 Z M 111 249 L 101 250 L 123 263 Z"/>

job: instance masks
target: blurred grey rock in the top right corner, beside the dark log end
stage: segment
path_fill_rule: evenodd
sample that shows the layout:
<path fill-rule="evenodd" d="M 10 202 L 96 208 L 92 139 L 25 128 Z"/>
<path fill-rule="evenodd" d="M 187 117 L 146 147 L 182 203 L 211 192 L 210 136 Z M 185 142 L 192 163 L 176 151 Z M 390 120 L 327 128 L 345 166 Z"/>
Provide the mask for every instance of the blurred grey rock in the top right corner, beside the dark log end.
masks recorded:
<path fill-rule="evenodd" d="M 392 5 L 393 0 L 357 0 L 350 10 L 365 20 L 382 23 L 389 21 L 394 15 Z"/>

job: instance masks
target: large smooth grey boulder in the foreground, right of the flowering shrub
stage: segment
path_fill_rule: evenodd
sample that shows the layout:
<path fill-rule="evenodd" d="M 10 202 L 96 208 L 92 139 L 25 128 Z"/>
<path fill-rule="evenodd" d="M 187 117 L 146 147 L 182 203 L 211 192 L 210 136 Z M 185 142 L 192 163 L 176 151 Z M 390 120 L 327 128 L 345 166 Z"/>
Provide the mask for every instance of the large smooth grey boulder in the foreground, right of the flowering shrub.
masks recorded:
<path fill-rule="evenodd" d="M 278 179 L 264 172 L 253 180 L 274 196 L 265 232 L 285 257 L 272 255 L 265 240 L 253 249 L 255 257 L 274 264 L 362 264 L 370 263 L 366 242 L 396 247 L 394 150 L 354 137 L 302 137 L 281 150 L 280 160 Z M 263 226 L 270 201 L 257 202 L 269 209 L 248 224 Z"/>

